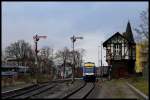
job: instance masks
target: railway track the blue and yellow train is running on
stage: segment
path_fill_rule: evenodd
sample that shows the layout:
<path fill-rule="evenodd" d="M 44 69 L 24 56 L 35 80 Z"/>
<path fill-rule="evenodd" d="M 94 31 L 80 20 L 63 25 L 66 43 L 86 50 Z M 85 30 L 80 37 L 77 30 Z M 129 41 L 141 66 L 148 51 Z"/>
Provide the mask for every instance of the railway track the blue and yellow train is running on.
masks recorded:
<path fill-rule="evenodd" d="M 86 99 L 95 87 L 95 83 L 84 83 L 83 86 L 71 92 L 63 99 Z"/>

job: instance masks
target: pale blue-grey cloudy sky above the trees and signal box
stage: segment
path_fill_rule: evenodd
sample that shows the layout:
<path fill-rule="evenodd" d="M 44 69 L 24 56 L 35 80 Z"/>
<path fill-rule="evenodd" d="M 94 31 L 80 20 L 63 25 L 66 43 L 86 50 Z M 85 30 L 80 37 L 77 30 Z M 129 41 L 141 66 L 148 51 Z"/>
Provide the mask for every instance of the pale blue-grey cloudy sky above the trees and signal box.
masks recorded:
<path fill-rule="evenodd" d="M 70 37 L 82 36 L 75 49 L 85 49 L 84 60 L 97 65 L 101 41 L 124 32 L 129 20 L 137 27 L 139 13 L 147 8 L 148 2 L 2 2 L 2 49 L 20 39 L 34 46 L 36 33 L 47 36 L 40 39 L 39 49 L 72 49 Z M 105 57 L 103 63 L 107 65 Z"/>

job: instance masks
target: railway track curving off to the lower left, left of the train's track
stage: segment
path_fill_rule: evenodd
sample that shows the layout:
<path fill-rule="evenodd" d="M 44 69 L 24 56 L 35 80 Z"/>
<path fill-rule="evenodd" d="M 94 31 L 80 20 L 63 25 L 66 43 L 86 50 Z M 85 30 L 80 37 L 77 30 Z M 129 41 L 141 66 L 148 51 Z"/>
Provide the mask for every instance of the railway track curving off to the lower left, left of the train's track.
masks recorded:
<path fill-rule="evenodd" d="M 3 92 L 2 99 L 25 99 L 38 95 L 44 91 L 54 88 L 58 83 L 63 83 L 69 80 L 55 80 L 52 82 L 44 82 L 41 84 L 34 84 L 25 88 L 14 91 Z"/>

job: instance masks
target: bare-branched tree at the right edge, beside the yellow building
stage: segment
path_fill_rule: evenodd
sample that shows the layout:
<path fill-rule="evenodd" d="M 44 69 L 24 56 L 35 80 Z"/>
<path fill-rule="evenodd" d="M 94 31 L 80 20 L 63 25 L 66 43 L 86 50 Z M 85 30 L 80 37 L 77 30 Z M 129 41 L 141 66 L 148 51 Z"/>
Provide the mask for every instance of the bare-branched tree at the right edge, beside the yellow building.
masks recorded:
<path fill-rule="evenodd" d="M 141 19 L 141 23 L 139 25 L 138 28 L 135 28 L 135 31 L 138 33 L 138 36 L 141 38 L 139 39 L 141 42 L 145 45 L 145 47 L 142 49 L 143 51 L 145 50 L 147 52 L 146 58 L 147 61 L 144 65 L 144 69 L 143 69 L 143 76 L 145 77 L 145 79 L 148 79 L 148 66 L 149 66 L 149 21 L 148 21 L 148 14 L 149 14 L 149 9 L 142 11 L 140 13 L 140 19 Z"/>

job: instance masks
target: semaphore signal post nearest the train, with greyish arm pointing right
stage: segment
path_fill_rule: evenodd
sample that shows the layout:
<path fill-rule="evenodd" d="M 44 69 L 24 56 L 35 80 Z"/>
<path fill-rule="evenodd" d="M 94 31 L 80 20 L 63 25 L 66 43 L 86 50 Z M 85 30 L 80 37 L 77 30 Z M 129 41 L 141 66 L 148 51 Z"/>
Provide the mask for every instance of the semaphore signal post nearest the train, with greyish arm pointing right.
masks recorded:
<path fill-rule="evenodd" d="M 72 68 L 72 82 L 74 82 L 74 72 L 75 72 L 75 53 L 74 53 L 74 43 L 77 39 L 83 39 L 83 37 L 75 37 L 74 35 L 70 38 L 73 45 L 73 68 Z"/>

